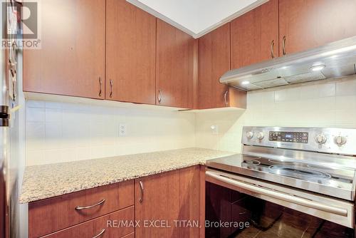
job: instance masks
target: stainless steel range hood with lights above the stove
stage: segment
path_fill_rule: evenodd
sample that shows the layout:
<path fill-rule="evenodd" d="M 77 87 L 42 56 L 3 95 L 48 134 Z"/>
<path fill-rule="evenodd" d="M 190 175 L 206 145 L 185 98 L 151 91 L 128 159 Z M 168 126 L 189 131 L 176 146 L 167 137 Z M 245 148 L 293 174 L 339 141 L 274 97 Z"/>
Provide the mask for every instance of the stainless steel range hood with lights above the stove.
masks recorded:
<path fill-rule="evenodd" d="M 356 74 L 356 36 L 228 71 L 220 83 L 257 90 L 352 74 Z"/>

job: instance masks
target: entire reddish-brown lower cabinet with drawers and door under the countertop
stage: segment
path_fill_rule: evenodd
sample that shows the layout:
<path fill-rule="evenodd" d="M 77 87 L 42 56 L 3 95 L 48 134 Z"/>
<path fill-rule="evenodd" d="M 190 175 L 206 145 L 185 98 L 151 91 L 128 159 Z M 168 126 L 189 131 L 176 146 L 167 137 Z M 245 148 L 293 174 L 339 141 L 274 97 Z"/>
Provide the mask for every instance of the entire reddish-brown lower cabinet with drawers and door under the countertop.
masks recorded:
<path fill-rule="evenodd" d="M 197 165 L 30 202 L 28 237 L 204 237 L 201 171 Z"/>

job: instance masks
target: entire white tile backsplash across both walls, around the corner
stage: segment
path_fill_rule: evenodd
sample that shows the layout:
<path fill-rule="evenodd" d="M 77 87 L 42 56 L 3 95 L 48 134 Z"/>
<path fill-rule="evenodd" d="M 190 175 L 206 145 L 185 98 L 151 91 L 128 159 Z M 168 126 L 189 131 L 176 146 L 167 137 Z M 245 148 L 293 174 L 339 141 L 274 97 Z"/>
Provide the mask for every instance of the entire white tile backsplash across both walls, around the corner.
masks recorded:
<path fill-rule="evenodd" d="M 240 152 L 244 125 L 356 128 L 356 77 L 252 91 L 246 110 L 195 114 L 30 100 L 26 165 L 194 146 Z"/>

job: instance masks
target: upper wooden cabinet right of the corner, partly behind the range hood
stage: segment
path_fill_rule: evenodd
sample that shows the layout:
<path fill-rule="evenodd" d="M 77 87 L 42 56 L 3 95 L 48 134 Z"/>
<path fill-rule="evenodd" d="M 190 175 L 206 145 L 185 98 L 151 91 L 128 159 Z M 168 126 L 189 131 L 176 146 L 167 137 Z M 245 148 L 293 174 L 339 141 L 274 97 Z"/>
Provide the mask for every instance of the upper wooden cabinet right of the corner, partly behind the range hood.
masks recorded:
<path fill-rule="evenodd" d="M 246 108 L 246 93 L 219 78 L 230 69 L 230 24 L 199 38 L 198 109 Z"/>

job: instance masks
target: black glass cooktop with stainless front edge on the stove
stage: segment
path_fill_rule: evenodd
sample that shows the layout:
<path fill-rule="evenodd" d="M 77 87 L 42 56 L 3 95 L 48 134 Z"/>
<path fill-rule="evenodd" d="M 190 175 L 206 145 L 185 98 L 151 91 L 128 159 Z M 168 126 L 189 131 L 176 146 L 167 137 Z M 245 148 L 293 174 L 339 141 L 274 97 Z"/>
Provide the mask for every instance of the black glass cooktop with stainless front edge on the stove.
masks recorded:
<path fill-rule="evenodd" d="M 355 170 L 335 167 L 331 163 L 316 164 L 313 161 L 231 155 L 208 160 L 206 165 L 332 197 L 346 200 L 355 198 Z"/>

